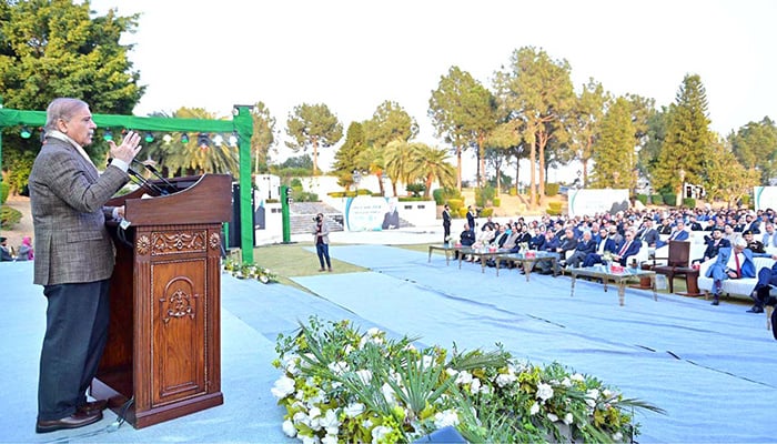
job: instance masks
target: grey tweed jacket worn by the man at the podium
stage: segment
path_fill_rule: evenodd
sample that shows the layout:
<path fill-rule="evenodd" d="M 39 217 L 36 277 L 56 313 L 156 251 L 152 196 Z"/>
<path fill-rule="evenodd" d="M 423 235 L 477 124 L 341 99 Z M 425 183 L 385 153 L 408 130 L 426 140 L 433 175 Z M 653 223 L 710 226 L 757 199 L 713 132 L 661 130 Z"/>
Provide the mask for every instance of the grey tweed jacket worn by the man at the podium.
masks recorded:
<path fill-rule="evenodd" d="M 49 138 L 30 173 L 34 279 L 40 285 L 94 282 L 113 272 L 113 243 L 103 208 L 129 181 L 117 167 L 100 175 L 75 148 Z"/>

